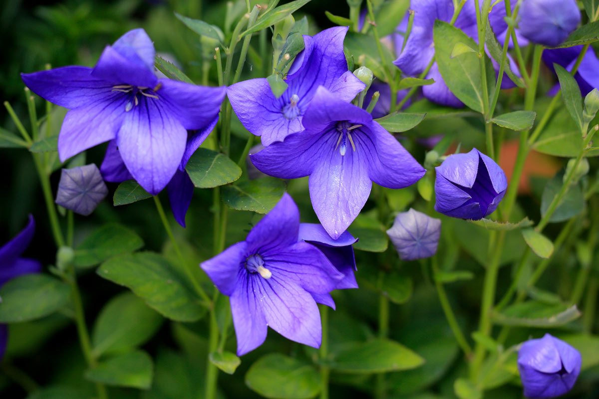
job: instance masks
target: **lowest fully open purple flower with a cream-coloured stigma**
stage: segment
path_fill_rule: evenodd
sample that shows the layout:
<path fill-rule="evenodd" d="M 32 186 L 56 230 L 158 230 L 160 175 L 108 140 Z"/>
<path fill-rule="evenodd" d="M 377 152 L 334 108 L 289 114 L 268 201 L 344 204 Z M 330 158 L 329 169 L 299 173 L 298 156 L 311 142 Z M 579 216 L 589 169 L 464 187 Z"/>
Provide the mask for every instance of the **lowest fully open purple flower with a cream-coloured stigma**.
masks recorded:
<path fill-rule="evenodd" d="M 219 291 L 231 297 L 237 355 L 262 345 L 267 327 L 295 342 L 320 346 L 320 313 L 313 295 L 337 288 L 343 275 L 307 242 L 298 242 L 299 211 L 289 194 L 243 242 L 202 262 Z"/>

